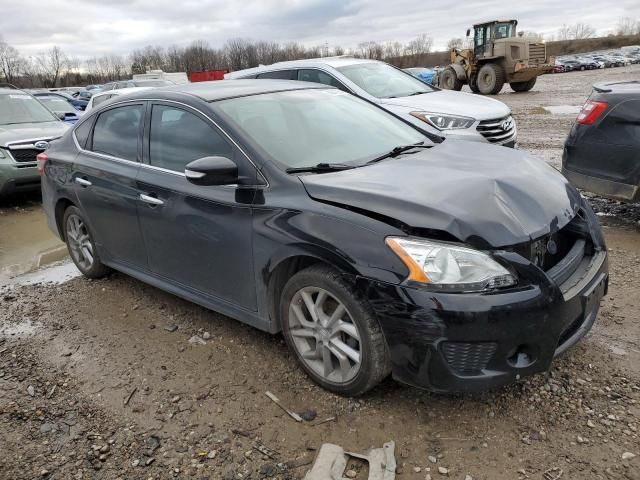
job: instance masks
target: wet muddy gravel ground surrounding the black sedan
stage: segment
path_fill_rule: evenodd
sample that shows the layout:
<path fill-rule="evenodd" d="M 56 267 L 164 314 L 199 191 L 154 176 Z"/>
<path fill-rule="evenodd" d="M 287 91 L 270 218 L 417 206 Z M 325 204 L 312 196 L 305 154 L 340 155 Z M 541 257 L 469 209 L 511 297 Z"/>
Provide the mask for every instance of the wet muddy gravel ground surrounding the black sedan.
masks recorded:
<path fill-rule="evenodd" d="M 548 75 L 531 93 L 498 98 L 521 148 L 557 166 L 575 115 L 544 108 L 579 106 L 595 81 L 639 73 Z M 5 201 L 0 479 L 298 479 L 324 442 L 364 452 L 394 440 L 402 479 L 640 480 L 640 208 L 593 203 L 610 291 L 591 335 L 551 372 L 478 396 L 387 380 L 346 399 L 311 383 L 281 337 L 124 275 L 67 280 L 62 263 L 16 277 L 58 260 L 60 244 L 37 196 Z M 266 391 L 315 418 L 295 422 Z"/>

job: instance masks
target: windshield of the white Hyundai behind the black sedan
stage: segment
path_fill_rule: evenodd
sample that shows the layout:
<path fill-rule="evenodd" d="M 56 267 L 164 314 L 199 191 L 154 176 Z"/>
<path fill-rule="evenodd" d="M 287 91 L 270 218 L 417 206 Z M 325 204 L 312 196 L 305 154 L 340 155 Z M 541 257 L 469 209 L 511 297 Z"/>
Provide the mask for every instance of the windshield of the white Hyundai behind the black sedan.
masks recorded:
<path fill-rule="evenodd" d="M 359 63 L 338 70 L 369 95 L 377 98 L 408 97 L 435 89 L 386 63 Z"/>

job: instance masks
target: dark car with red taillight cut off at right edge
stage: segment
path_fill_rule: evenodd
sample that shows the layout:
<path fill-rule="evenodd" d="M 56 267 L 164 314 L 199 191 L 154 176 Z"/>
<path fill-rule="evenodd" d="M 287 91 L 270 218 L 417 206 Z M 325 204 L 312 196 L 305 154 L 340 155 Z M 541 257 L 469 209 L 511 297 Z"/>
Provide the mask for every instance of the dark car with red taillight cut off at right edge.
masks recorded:
<path fill-rule="evenodd" d="M 565 142 L 562 172 L 585 190 L 640 201 L 640 82 L 593 86 Z"/>

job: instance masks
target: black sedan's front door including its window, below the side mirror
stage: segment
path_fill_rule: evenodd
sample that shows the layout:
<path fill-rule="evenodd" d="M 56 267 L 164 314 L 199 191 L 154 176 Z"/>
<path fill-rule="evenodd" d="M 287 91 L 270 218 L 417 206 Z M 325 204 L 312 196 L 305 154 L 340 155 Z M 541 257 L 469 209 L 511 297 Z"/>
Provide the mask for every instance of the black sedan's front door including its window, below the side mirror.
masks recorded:
<path fill-rule="evenodd" d="M 138 176 L 149 268 L 166 280 L 256 310 L 253 274 L 254 188 L 199 186 L 184 176 L 198 158 L 225 156 L 244 176 L 255 168 L 199 112 L 153 103 L 145 133 L 146 164 Z M 249 182 L 255 183 L 255 182 Z"/>

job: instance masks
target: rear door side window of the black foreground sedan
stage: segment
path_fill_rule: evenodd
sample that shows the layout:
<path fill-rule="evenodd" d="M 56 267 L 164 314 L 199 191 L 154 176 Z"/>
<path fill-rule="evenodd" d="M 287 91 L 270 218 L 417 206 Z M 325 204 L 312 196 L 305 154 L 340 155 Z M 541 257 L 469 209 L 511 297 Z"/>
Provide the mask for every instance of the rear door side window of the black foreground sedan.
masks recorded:
<path fill-rule="evenodd" d="M 143 112 L 142 105 L 127 105 L 101 113 L 93 128 L 91 150 L 135 162 Z"/>

